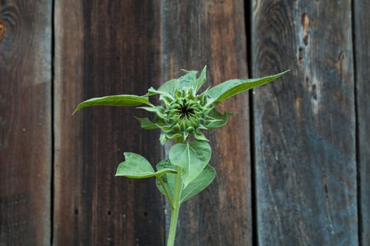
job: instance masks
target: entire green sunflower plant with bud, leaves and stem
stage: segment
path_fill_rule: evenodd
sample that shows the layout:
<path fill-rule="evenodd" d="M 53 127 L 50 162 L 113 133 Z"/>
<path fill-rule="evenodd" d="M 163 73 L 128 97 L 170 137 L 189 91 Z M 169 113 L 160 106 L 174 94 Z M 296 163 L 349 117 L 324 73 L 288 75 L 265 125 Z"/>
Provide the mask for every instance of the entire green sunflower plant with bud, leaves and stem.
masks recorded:
<path fill-rule="evenodd" d="M 216 171 L 209 165 L 211 146 L 203 131 L 223 127 L 231 115 L 218 112 L 216 105 L 288 72 L 259 79 L 232 79 L 198 93 L 206 81 L 206 66 L 198 78 L 197 71 L 183 71 L 183 77 L 171 79 L 159 89 L 151 87 L 144 96 L 123 94 L 91 98 L 80 103 L 73 112 L 94 105 L 140 106 L 138 108 L 154 113 L 152 119 L 136 118 L 142 128 L 161 129 L 161 144 L 175 140 L 169 158 L 156 165 L 157 171 L 141 155 L 125 153 L 125 161 L 119 164 L 116 172 L 116 176 L 131 179 L 156 178 L 156 186 L 166 195 L 172 209 L 168 246 L 175 240 L 180 205 L 214 180 Z M 151 96 L 159 96 L 161 105 L 153 105 L 149 101 Z"/>

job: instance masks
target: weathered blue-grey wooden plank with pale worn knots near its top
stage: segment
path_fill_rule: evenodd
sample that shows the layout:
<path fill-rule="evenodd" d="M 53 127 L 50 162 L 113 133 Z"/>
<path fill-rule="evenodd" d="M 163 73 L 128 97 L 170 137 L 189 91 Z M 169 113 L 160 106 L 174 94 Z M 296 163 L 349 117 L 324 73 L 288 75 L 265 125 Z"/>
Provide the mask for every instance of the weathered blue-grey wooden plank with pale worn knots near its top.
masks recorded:
<path fill-rule="evenodd" d="M 259 245 L 358 245 L 351 1 L 253 1 Z"/>

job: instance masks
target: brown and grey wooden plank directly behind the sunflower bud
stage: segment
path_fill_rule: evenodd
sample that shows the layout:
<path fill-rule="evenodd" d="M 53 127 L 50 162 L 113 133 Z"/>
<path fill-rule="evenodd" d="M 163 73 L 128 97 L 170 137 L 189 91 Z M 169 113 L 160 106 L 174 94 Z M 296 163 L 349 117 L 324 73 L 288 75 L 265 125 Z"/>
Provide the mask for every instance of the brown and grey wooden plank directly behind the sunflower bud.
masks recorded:
<path fill-rule="evenodd" d="M 164 80 L 182 75 L 181 68 L 199 71 L 204 65 L 205 88 L 247 77 L 243 1 L 164 1 L 163 8 Z M 220 109 L 237 114 L 207 135 L 216 179 L 181 207 L 176 245 L 252 243 L 247 94 Z"/>

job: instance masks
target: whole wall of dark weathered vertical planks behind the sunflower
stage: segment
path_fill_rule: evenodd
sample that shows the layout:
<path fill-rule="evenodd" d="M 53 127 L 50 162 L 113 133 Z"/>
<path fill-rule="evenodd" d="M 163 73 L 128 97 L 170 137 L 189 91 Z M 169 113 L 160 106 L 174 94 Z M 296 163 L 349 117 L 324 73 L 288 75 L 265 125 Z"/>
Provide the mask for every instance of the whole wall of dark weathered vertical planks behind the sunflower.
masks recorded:
<path fill-rule="evenodd" d="M 167 153 L 135 108 L 80 101 L 208 65 L 206 86 L 290 69 L 208 132 L 214 183 L 176 245 L 370 245 L 370 0 L 0 1 L 0 245 L 165 245 Z"/>

